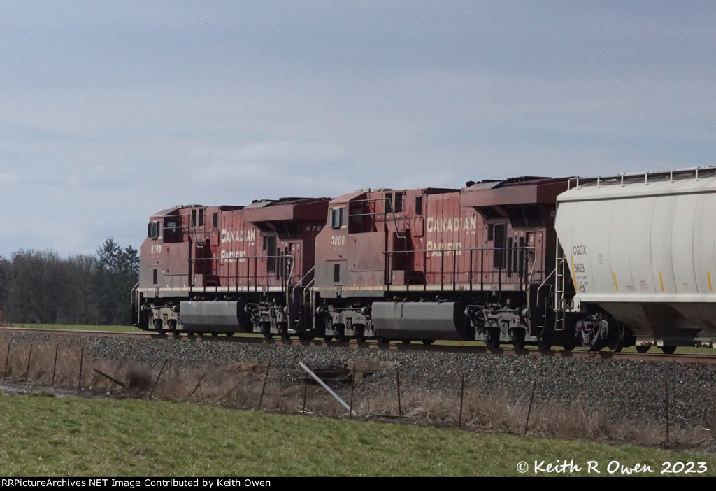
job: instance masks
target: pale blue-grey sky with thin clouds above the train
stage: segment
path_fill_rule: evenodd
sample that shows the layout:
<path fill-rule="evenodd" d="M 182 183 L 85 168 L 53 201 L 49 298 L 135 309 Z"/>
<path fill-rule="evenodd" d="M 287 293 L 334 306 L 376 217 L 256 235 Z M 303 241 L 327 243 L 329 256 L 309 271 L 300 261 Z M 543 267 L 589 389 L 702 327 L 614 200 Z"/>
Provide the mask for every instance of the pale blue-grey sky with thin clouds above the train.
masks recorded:
<path fill-rule="evenodd" d="M 0 2 L 0 256 L 173 205 L 715 165 L 713 1 Z"/>

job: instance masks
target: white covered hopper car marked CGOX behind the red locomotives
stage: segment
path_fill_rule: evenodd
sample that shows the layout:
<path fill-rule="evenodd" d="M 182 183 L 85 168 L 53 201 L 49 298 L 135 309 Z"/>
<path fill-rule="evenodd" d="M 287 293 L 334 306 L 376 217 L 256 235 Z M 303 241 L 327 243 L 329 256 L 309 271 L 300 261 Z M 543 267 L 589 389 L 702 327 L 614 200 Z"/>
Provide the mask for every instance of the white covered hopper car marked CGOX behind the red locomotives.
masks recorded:
<path fill-rule="evenodd" d="M 716 167 L 572 183 L 555 228 L 577 338 L 665 352 L 714 343 Z"/>

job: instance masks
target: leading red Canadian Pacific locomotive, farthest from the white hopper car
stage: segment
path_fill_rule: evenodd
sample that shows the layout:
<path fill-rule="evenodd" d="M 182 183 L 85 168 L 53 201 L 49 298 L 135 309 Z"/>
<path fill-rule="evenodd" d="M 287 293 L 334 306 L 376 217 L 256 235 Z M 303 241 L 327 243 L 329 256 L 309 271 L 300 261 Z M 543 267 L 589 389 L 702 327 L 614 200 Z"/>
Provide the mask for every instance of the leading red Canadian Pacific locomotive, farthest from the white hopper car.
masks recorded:
<path fill-rule="evenodd" d="M 135 326 L 227 336 L 299 334 L 328 201 L 283 198 L 155 213 L 132 292 Z"/>

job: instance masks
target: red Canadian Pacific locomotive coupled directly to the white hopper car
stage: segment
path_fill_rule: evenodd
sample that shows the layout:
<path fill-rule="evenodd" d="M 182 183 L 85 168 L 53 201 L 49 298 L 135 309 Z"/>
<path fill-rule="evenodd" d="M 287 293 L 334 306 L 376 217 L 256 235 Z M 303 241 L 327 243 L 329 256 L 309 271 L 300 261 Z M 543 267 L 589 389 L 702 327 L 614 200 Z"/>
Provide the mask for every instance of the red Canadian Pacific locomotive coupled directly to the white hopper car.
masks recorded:
<path fill-rule="evenodd" d="M 314 334 L 573 343 L 551 332 L 548 302 L 563 190 L 517 178 L 335 198 L 316 238 Z"/>

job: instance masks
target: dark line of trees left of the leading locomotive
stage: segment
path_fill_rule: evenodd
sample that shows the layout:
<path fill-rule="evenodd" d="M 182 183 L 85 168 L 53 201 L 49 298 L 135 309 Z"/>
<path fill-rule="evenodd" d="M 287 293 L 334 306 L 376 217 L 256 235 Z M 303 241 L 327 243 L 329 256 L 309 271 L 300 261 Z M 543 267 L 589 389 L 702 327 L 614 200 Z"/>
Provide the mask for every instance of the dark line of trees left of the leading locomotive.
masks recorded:
<path fill-rule="evenodd" d="M 108 238 L 95 255 L 63 259 L 52 249 L 0 256 L 2 322 L 128 325 L 139 252 Z"/>

